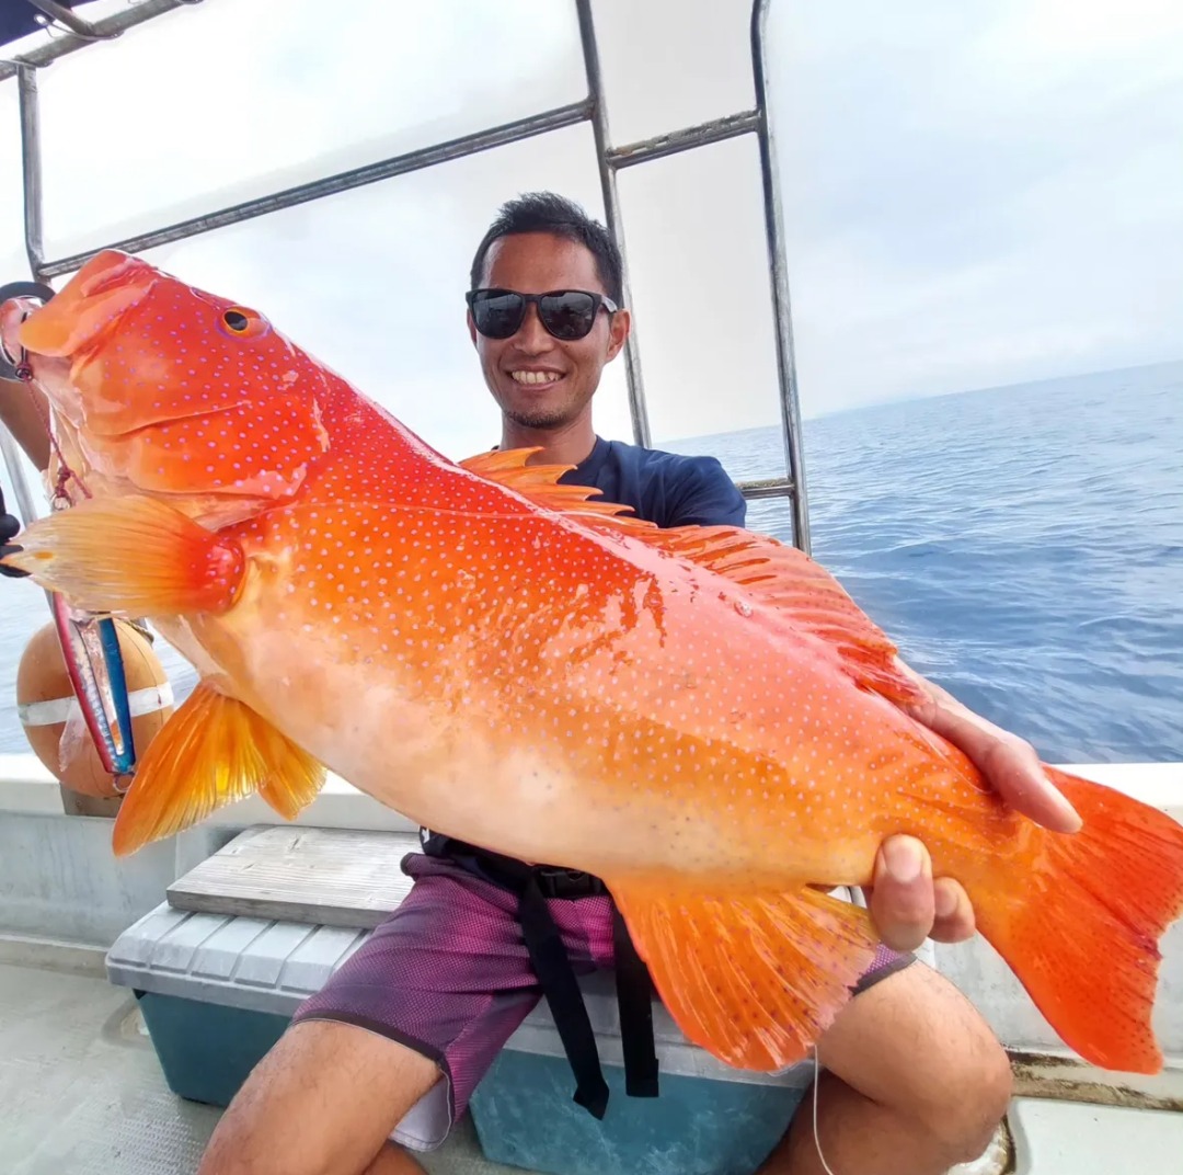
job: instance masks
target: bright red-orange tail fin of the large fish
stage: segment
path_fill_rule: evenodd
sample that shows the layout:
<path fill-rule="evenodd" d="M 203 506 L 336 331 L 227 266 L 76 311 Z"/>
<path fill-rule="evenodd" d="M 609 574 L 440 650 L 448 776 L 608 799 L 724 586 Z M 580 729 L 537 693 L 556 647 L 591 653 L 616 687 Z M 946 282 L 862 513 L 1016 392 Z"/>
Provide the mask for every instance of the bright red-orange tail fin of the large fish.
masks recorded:
<path fill-rule="evenodd" d="M 969 889 L 978 930 L 1071 1048 L 1105 1069 L 1157 1073 L 1158 940 L 1183 913 L 1183 825 L 1120 792 L 1045 767 L 1084 820 L 1034 829 L 1028 870 Z"/>

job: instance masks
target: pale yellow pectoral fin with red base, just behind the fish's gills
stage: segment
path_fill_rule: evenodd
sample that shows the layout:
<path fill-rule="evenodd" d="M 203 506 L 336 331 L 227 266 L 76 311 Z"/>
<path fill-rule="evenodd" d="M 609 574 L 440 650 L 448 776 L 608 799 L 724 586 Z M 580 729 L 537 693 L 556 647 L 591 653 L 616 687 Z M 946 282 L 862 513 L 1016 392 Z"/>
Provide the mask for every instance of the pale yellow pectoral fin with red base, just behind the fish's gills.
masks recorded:
<path fill-rule="evenodd" d="M 225 612 L 241 585 L 241 547 L 149 497 L 89 498 L 39 518 L 6 566 L 89 612 L 130 616 Z"/>

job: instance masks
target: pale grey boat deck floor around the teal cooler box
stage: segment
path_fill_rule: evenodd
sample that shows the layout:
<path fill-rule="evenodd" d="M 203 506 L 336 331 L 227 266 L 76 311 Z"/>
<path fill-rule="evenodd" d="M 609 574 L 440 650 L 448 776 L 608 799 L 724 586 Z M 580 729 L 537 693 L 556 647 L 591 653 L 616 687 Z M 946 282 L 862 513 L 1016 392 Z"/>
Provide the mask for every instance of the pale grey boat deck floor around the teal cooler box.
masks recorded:
<path fill-rule="evenodd" d="M 6 1175 L 192 1175 L 219 1112 L 169 1091 L 125 988 L 0 963 Z M 1183 1153 L 1183 1113 L 1016 1099 L 1009 1121 L 1016 1175 L 1177 1175 Z M 468 1118 L 421 1162 L 431 1175 L 522 1175 L 481 1156 Z"/>

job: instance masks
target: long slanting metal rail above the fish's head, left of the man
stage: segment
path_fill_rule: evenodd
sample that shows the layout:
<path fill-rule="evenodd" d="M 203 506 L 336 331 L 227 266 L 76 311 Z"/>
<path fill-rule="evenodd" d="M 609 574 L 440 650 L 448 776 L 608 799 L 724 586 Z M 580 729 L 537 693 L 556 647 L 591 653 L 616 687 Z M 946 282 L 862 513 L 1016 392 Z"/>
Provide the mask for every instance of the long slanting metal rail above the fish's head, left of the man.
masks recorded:
<path fill-rule="evenodd" d="M 563 127 L 574 127 L 577 123 L 586 122 L 590 117 L 590 110 L 592 103 L 588 98 L 581 102 L 573 102 L 565 106 L 555 106 L 551 110 L 529 115 L 525 118 L 517 118 L 513 122 L 503 123 L 489 130 L 463 135 L 459 138 L 407 151 L 405 155 L 395 155 L 390 159 L 380 160 L 376 163 L 366 163 L 362 167 L 340 172 L 336 175 L 329 175 L 321 180 L 312 180 L 309 183 L 299 183 L 271 195 L 246 200 L 230 208 L 221 208 L 206 215 L 181 220 L 164 228 L 156 228 L 136 237 L 127 237 L 121 241 L 102 247 L 119 248 L 127 253 L 138 253 L 146 248 L 154 248 L 157 245 L 167 245 L 169 241 L 182 240 L 186 237 L 196 237 L 214 228 L 224 228 L 227 225 L 240 224 L 254 217 L 264 217 L 271 212 L 279 212 L 282 208 L 291 208 L 298 204 L 306 204 L 309 200 L 319 200 L 322 196 L 348 192 L 351 188 L 358 188 L 367 183 L 376 183 L 380 180 L 389 180 L 395 175 L 419 172 L 437 163 L 447 163 L 452 160 L 465 159 L 468 155 L 476 155 L 478 151 L 517 143 L 535 135 L 544 135 L 551 130 L 560 130 Z M 95 248 L 86 253 L 75 253 L 72 257 L 45 262 L 39 276 L 44 278 L 71 273 L 99 251 L 99 248 Z"/>

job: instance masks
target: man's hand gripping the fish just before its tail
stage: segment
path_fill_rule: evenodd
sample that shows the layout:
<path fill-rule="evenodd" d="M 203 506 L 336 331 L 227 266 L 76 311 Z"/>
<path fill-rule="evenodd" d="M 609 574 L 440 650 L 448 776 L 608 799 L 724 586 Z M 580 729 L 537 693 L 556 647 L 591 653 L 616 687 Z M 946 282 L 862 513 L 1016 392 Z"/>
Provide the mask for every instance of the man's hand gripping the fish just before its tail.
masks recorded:
<path fill-rule="evenodd" d="M 962 750 L 1010 807 L 1054 832 L 1077 832 L 1081 820 L 1040 767 L 1035 748 L 987 722 L 901 661 L 927 695 L 905 708 L 917 722 Z M 890 837 L 875 858 L 866 890 L 875 929 L 896 950 L 914 950 L 926 937 L 962 942 L 975 932 L 974 908 L 952 878 L 933 880 L 927 850 L 913 837 Z"/>

